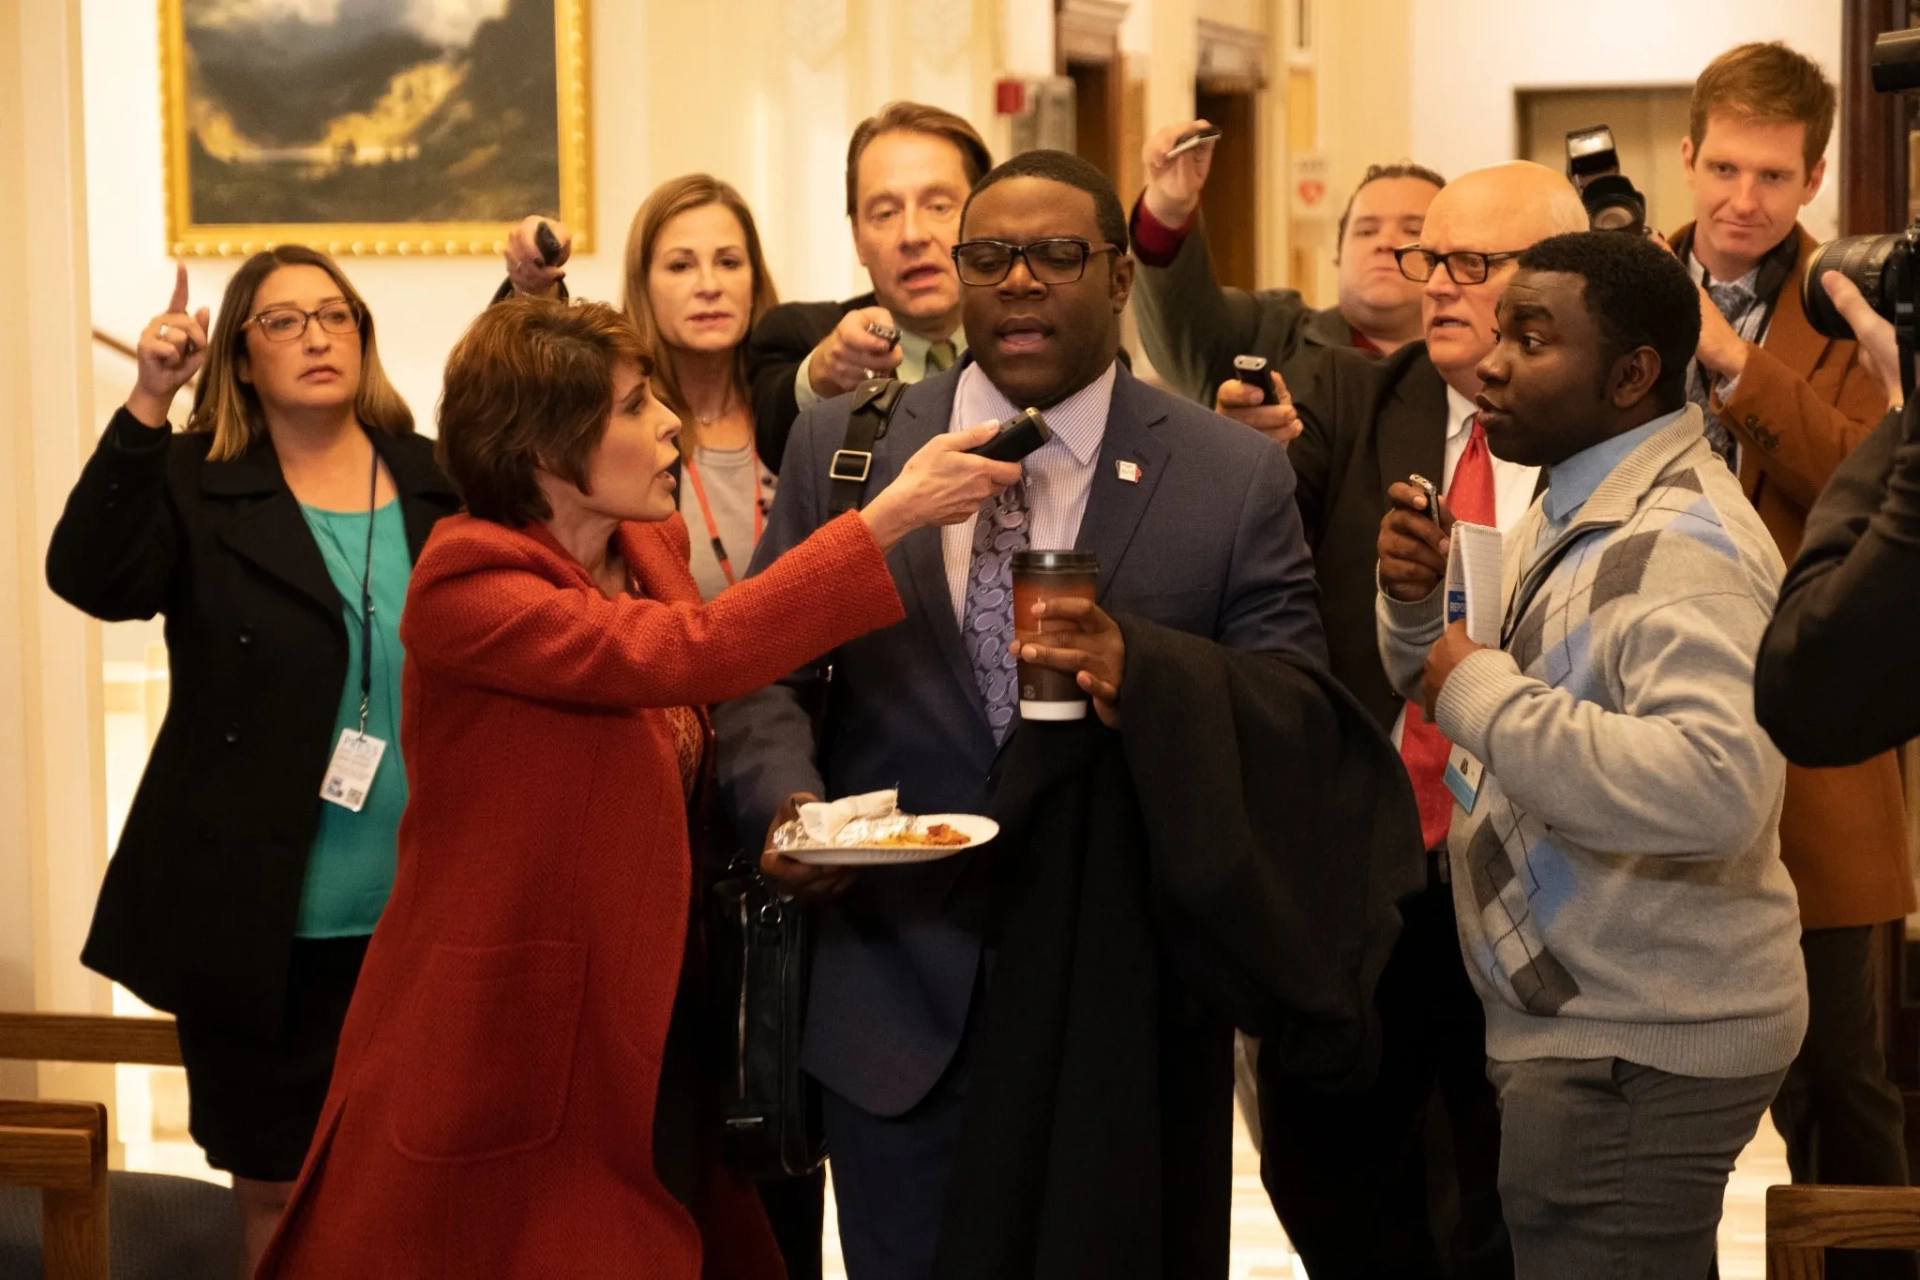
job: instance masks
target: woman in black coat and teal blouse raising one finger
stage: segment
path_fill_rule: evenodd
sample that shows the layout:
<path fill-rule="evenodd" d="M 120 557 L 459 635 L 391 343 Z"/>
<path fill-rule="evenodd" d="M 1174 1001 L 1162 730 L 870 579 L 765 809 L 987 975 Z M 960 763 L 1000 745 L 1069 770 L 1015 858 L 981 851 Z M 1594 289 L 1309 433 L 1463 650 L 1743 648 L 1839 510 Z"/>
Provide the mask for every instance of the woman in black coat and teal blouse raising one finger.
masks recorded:
<path fill-rule="evenodd" d="M 324 253 L 250 257 L 211 338 L 182 267 L 138 365 L 46 557 L 88 614 L 167 620 L 167 718 L 81 960 L 177 1015 L 190 1130 L 234 1174 L 252 1270 L 392 885 L 399 606 L 459 499 Z"/>

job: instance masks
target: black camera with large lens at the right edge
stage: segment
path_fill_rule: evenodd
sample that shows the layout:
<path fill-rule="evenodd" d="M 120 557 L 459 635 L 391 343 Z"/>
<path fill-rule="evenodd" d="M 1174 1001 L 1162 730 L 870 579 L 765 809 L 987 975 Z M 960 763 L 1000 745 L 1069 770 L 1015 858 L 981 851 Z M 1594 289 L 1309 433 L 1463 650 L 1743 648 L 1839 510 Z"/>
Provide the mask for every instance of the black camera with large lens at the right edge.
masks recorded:
<path fill-rule="evenodd" d="M 1899 94 L 1920 88 L 1920 29 L 1889 31 L 1874 40 L 1874 92 Z M 1916 328 L 1916 305 L 1920 305 L 1920 265 L 1916 265 L 1916 246 L 1920 246 L 1920 219 L 1907 230 L 1884 236 L 1841 236 L 1820 246 L 1807 263 L 1807 276 L 1801 280 L 1801 305 L 1807 319 L 1826 338 L 1853 338 L 1853 326 L 1834 305 L 1834 299 L 1820 288 L 1820 276 L 1837 271 L 1859 286 L 1866 303 L 1889 324 L 1901 344 L 1901 382 L 1908 399 L 1914 393 L 1912 355 L 1920 328 Z"/>

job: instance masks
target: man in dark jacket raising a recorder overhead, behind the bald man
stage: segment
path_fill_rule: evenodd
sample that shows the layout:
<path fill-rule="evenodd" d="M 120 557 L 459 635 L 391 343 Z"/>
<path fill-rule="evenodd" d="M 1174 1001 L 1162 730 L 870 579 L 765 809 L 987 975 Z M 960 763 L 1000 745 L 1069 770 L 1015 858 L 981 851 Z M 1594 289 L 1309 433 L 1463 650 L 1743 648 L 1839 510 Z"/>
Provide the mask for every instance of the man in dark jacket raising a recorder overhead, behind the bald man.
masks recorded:
<path fill-rule="evenodd" d="M 1181 395 L 1286 443 L 1300 434 L 1292 391 L 1306 390 L 1327 351 L 1398 351 L 1421 336 L 1421 288 L 1400 274 L 1394 248 L 1421 238 L 1427 205 L 1446 186 L 1421 165 L 1371 165 L 1340 213 L 1334 265 L 1340 303 L 1315 311 L 1298 290 L 1223 288 L 1213 274 L 1200 192 L 1213 140 L 1190 140 L 1206 121 L 1146 140 L 1146 190 L 1133 205 L 1140 342 Z M 1267 361 L 1269 388 L 1235 378 L 1236 355 Z"/>

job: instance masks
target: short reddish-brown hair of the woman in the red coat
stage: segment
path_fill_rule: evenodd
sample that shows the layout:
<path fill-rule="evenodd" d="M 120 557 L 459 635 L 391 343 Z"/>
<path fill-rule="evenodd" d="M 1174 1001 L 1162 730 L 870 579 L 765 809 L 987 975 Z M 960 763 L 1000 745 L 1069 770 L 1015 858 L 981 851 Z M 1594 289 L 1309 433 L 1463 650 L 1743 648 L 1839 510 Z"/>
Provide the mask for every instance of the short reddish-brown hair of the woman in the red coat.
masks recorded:
<path fill-rule="evenodd" d="M 536 470 L 586 491 L 622 363 L 653 374 L 634 324 L 605 303 L 511 297 L 482 311 L 440 393 L 440 464 L 467 510 L 515 528 L 545 520 Z"/>

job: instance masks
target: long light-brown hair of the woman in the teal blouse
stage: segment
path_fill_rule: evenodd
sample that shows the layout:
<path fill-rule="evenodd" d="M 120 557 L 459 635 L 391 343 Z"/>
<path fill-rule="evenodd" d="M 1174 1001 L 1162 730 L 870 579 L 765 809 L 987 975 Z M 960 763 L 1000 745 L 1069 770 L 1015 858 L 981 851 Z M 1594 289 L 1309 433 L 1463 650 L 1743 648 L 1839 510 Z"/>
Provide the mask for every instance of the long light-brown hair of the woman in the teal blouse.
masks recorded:
<path fill-rule="evenodd" d="M 367 309 L 367 301 L 326 253 L 303 244 L 278 244 L 246 259 L 234 278 L 227 282 L 227 292 L 221 296 L 221 319 L 213 322 L 213 332 L 207 336 L 207 365 L 200 370 L 194 413 L 186 420 L 186 430 L 213 434 L 207 461 L 236 459 L 267 432 L 259 391 L 240 380 L 240 361 L 246 357 L 246 322 L 253 311 L 253 294 L 261 280 L 280 267 L 319 267 L 340 286 L 340 296 L 359 315 L 361 380 L 353 393 L 353 415 L 361 426 L 394 436 L 411 434 L 413 411 L 407 409 L 407 401 L 399 397 L 394 384 L 386 380 L 386 370 L 380 368 L 380 353 L 372 342 L 372 313 Z"/>

